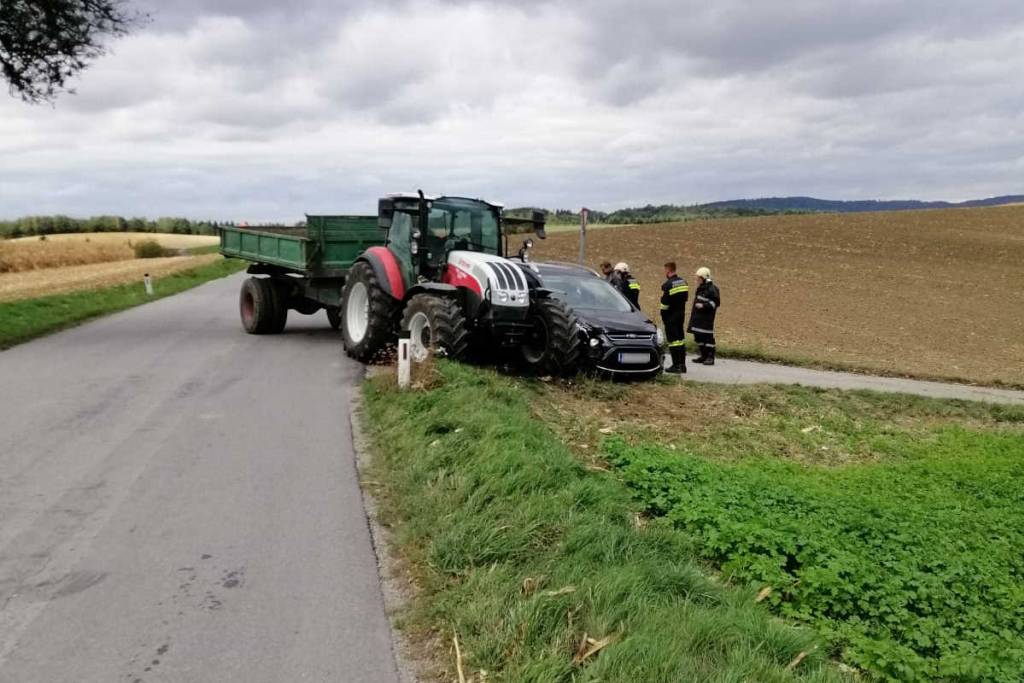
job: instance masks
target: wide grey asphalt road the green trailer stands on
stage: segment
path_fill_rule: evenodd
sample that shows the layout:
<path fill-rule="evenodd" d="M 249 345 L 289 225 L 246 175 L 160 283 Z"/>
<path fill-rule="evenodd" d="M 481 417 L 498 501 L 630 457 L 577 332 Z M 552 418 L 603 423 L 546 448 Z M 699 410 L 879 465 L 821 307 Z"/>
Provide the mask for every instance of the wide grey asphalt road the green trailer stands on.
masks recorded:
<path fill-rule="evenodd" d="M 0 681 L 396 681 L 360 368 L 240 276 L 0 352 Z"/>

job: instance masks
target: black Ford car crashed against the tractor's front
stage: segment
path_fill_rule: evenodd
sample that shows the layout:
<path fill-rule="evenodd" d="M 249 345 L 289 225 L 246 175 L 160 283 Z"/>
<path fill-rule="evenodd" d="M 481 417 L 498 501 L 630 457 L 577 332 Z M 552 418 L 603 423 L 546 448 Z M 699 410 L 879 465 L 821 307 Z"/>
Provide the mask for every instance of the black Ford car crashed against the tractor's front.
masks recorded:
<path fill-rule="evenodd" d="M 584 369 L 616 378 L 662 373 L 660 331 L 640 309 L 593 270 L 569 263 L 528 263 L 546 289 L 580 318 Z"/>

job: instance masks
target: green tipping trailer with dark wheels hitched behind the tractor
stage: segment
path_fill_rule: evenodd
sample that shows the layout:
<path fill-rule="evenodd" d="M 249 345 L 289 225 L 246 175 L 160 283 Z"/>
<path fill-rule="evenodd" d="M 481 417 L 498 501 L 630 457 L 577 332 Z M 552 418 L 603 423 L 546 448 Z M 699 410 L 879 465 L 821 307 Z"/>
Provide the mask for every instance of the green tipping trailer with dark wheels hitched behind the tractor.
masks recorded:
<path fill-rule="evenodd" d="M 251 261 L 242 288 L 242 323 L 248 332 L 273 334 L 288 311 L 311 315 L 322 308 L 335 329 L 345 275 L 368 249 L 383 246 L 377 216 L 306 216 L 306 224 L 220 227 L 220 253 Z"/>

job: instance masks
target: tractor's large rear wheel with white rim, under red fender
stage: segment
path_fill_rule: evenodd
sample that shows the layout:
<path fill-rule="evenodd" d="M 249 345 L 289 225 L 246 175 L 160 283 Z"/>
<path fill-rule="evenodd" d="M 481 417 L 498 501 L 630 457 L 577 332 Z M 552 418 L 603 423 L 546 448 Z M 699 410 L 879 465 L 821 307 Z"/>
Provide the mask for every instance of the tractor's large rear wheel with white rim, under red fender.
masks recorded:
<path fill-rule="evenodd" d="M 377 281 L 369 263 L 348 271 L 341 290 L 341 338 L 345 351 L 369 362 L 394 335 L 395 302 Z"/>

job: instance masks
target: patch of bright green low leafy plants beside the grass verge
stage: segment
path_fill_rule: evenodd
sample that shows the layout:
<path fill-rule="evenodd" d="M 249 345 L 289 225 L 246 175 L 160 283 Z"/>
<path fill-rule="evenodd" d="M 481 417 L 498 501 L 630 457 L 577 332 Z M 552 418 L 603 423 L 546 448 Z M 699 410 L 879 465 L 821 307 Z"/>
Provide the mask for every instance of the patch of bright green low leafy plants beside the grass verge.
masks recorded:
<path fill-rule="evenodd" d="M 902 457 L 837 468 L 605 449 L 648 514 L 873 678 L 1024 680 L 1024 434 L 879 440 Z"/>

